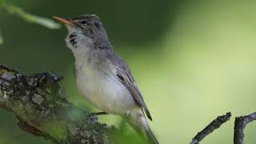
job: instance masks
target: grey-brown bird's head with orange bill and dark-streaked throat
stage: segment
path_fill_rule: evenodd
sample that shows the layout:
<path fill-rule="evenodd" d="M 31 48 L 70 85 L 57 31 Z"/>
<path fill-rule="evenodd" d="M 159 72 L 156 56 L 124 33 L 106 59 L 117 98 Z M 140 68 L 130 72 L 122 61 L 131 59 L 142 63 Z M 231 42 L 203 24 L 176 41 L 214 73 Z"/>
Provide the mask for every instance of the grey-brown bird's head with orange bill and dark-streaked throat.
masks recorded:
<path fill-rule="evenodd" d="M 64 24 L 68 30 L 67 46 L 71 50 L 97 49 L 109 45 L 102 22 L 95 14 L 85 14 L 76 18 L 53 17 Z"/>

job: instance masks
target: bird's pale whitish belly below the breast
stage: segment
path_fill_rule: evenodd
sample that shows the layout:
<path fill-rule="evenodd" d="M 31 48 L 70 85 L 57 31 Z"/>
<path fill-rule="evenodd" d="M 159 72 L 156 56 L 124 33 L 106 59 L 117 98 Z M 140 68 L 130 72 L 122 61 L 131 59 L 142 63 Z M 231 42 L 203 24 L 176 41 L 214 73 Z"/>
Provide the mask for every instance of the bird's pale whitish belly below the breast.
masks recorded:
<path fill-rule="evenodd" d="M 85 68 L 77 72 L 78 90 L 86 101 L 111 114 L 125 114 L 136 106 L 130 92 L 111 74 Z"/>

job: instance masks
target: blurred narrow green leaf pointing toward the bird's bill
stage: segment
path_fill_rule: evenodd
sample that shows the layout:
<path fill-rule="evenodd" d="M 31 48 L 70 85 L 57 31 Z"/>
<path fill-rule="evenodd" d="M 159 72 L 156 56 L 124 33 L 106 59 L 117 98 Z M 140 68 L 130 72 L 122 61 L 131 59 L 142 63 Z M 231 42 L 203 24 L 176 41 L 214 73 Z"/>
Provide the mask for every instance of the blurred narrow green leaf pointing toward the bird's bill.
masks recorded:
<path fill-rule="evenodd" d="M 59 29 L 61 27 L 60 24 L 54 22 L 49 18 L 42 18 L 34 14 L 26 13 L 24 10 L 22 10 L 22 8 L 19 8 L 17 6 L 9 6 L 5 4 L 4 7 L 10 14 L 17 14 L 26 22 L 36 23 L 41 26 L 46 26 L 47 28 L 50 29 Z"/>

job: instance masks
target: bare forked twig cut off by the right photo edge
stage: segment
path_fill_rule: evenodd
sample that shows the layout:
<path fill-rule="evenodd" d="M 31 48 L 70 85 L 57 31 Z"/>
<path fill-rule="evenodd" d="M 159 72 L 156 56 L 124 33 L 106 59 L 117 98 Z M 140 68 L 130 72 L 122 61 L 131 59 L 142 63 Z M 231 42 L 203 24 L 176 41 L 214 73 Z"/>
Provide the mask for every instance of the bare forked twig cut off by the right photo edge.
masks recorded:
<path fill-rule="evenodd" d="M 234 122 L 234 144 L 243 144 L 243 130 L 246 125 L 256 120 L 256 113 L 235 118 Z"/>

